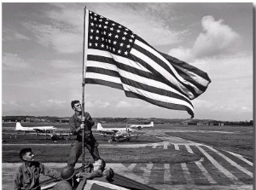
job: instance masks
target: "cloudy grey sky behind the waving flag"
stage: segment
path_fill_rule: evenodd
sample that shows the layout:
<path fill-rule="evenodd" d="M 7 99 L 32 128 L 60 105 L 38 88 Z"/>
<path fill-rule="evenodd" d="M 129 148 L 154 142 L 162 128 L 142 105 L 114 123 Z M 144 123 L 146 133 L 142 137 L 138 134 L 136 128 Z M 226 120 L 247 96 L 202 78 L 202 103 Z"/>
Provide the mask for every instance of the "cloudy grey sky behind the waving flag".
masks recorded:
<path fill-rule="evenodd" d="M 195 118 L 253 119 L 253 3 L 3 3 L 2 114 L 66 117 L 82 98 L 84 6 L 207 72 Z M 86 84 L 93 118 L 189 118 Z"/>

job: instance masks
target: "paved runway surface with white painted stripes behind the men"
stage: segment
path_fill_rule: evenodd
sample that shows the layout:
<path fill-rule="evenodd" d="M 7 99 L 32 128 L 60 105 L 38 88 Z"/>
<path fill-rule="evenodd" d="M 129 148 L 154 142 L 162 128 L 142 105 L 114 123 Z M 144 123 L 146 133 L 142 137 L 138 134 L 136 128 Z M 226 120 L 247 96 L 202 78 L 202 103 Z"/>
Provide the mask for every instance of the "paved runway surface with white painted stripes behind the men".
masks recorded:
<path fill-rule="evenodd" d="M 163 133 L 162 133 L 163 134 Z M 170 135 L 158 135 L 164 141 L 137 145 L 115 145 L 116 147 L 151 147 L 183 150 L 196 153 L 201 160 L 192 163 L 115 163 L 107 164 L 119 175 L 129 177 L 150 187 L 163 190 L 179 189 L 253 189 L 253 160 L 236 153 L 217 150 L 214 147 L 186 141 Z M 49 146 L 49 145 L 48 145 Z M 111 146 L 113 145 L 105 145 Z M 103 147 L 103 146 L 102 146 Z M 54 169 L 66 164 L 47 163 Z M 3 189 L 9 190 L 17 164 L 3 163 Z M 43 177 L 42 180 L 45 178 Z"/>

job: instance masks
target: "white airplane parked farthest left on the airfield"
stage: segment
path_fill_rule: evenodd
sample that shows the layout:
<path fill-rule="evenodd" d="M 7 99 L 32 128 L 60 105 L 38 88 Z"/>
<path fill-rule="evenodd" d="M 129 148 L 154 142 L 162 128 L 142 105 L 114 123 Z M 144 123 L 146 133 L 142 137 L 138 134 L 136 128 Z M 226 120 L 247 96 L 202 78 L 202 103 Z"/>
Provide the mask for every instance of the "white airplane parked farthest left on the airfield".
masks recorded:
<path fill-rule="evenodd" d="M 20 122 L 16 123 L 15 131 L 20 132 L 36 132 L 36 133 L 51 133 L 57 130 L 54 126 L 37 126 L 37 127 L 23 127 Z"/>

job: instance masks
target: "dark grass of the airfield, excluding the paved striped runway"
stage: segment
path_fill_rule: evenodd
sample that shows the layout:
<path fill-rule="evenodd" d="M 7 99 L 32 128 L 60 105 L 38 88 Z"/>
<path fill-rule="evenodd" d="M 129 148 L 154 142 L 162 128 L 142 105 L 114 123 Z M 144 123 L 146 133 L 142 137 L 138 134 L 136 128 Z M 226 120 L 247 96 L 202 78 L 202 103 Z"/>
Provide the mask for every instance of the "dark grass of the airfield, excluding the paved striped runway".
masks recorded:
<path fill-rule="evenodd" d="M 42 125 L 42 124 L 38 124 Z M 68 130 L 68 124 L 48 124 L 55 125 L 58 129 Z M 125 124 L 104 124 L 104 127 L 125 127 Z M 33 124 L 24 124 L 24 126 L 33 126 Z M 96 127 L 94 127 L 95 129 Z M 4 162 L 20 162 L 18 153 L 19 144 L 30 144 L 37 159 L 44 160 L 44 162 L 67 162 L 70 146 L 40 146 L 37 144 L 70 144 L 73 139 L 69 141 L 61 140 L 53 142 L 50 139 L 44 140 L 44 137 L 35 135 L 10 135 L 14 133 L 15 124 L 3 124 L 3 163 Z M 162 141 L 154 135 L 167 134 L 178 136 L 189 141 L 200 142 L 203 144 L 224 149 L 233 153 L 253 158 L 253 127 L 243 126 L 183 126 L 183 125 L 155 125 L 152 129 L 139 130 L 141 136 L 137 140 L 130 142 L 119 143 L 152 143 Z M 148 135 L 143 135 L 149 133 Z M 151 134 L 151 135 L 150 135 Z M 21 137 L 22 136 L 22 137 Z M 95 135 L 96 140 L 100 144 L 108 144 L 108 138 Z M 16 144 L 16 146 L 5 146 L 5 144 Z M 117 142 L 114 142 L 117 143 Z M 90 162 L 89 153 L 85 150 L 86 162 Z M 121 148 L 121 147 L 99 147 L 102 158 L 106 159 L 108 163 L 180 163 L 189 162 L 200 159 L 195 154 L 189 154 L 183 151 L 152 149 L 152 148 Z"/>

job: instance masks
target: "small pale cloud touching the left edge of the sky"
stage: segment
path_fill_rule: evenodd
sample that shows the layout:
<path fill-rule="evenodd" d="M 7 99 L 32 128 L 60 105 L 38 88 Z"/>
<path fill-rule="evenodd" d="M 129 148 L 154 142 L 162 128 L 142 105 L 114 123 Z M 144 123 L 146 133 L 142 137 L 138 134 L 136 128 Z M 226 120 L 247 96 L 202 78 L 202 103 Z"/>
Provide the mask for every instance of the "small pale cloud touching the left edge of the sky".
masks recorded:
<path fill-rule="evenodd" d="M 20 59 L 20 57 L 16 54 L 3 54 L 3 70 L 17 70 L 17 69 L 25 69 L 29 64 Z"/>

